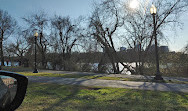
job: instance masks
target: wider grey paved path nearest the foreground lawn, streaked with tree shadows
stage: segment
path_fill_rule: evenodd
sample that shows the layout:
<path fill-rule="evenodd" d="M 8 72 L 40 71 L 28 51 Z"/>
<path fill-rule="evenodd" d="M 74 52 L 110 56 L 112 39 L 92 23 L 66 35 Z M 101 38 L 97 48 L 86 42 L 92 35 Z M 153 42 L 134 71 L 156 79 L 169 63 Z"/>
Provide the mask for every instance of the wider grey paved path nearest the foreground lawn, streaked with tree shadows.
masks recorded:
<path fill-rule="evenodd" d="M 30 82 L 38 82 L 38 83 L 102 86 L 102 87 L 130 88 L 130 89 L 142 89 L 142 90 L 157 90 L 157 91 L 177 91 L 177 92 L 188 93 L 187 84 L 151 83 L 151 82 L 133 82 L 133 81 L 119 81 L 119 80 L 61 78 L 61 77 L 37 77 L 37 76 L 28 76 L 28 79 Z"/>

